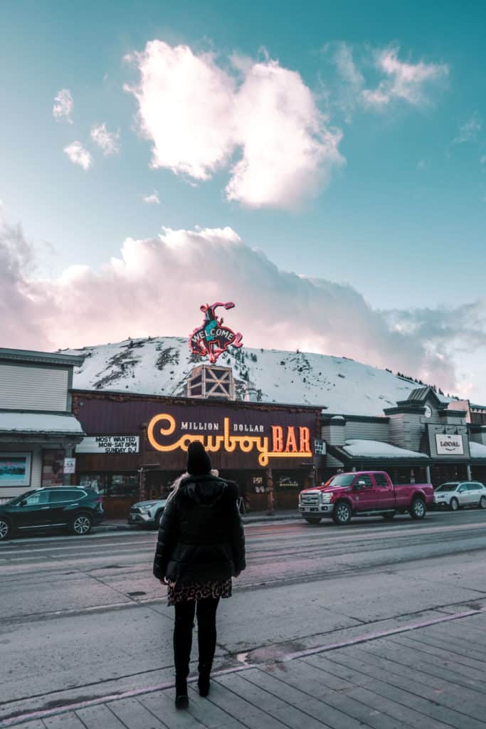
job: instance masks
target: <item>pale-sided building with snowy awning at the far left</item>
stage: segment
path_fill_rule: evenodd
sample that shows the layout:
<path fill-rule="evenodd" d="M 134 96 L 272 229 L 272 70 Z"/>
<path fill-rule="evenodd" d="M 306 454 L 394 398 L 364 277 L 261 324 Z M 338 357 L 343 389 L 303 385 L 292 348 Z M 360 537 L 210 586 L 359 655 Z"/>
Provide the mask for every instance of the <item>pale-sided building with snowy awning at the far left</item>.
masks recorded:
<path fill-rule="evenodd" d="M 83 359 L 0 348 L 0 503 L 69 483 L 64 459 L 84 436 L 70 392 Z"/>

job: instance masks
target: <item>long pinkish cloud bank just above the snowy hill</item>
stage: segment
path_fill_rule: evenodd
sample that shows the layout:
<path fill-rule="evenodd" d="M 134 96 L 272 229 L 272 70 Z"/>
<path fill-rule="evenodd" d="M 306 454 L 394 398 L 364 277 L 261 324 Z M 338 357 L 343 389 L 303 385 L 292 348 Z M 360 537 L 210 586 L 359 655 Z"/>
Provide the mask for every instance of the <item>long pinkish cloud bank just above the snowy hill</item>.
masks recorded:
<path fill-rule="evenodd" d="M 120 257 L 99 270 L 75 265 L 41 280 L 21 231 L 2 230 L 0 335 L 6 346 L 185 335 L 199 316 L 203 292 L 205 300 L 238 303 L 248 346 L 345 354 L 486 401 L 485 301 L 453 311 L 375 311 L 350 286 L 280 270 L 229 227 L 128 238 Z M 174 301 L 184 305 L 174 308 Z"/>

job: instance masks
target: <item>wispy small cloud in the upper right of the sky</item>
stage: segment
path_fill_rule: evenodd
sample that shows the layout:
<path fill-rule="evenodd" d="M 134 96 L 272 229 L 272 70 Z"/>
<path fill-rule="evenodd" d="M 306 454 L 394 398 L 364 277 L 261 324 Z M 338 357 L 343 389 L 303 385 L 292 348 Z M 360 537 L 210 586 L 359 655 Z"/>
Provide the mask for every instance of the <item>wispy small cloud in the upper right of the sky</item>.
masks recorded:
<path fill-rule="evenodd" d="M 401 99 L 418 106 L 428 101 L 426 88 L 444 79 L 449 68 L 444 63 L 405 63 L 399 61 L 399 48 L 388 47 L 375 54 L 378 71 L 385 74 L 375 89 L 364 89 L 362 98 L 368 106 L 383 107 Z"/>

